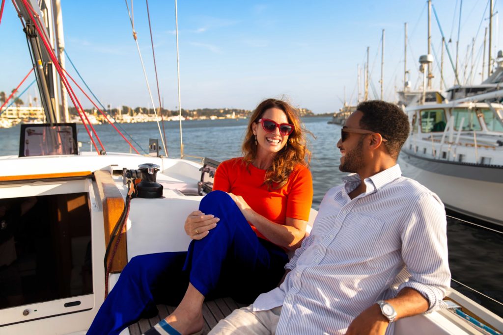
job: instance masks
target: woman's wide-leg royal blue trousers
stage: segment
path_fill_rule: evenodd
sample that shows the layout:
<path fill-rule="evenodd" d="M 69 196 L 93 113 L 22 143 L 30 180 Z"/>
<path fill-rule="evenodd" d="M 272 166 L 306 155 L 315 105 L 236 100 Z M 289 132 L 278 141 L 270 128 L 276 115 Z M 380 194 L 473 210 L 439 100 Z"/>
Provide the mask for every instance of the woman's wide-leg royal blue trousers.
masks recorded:
<path fill-rule="evenodd" d="M 136 256 L 103 302 L 88 335 L 119 334 L 140 318 L 157 315 L 156 304 L 178 305 L 189 282 L 206 299 L 230 296 L 251 303 L 278 284 L 288 261 L 278 246 L 260 239 L 232 198 L 213 191 L 199 209 L 219 217 L 217 227 L 187 252 Z"/>

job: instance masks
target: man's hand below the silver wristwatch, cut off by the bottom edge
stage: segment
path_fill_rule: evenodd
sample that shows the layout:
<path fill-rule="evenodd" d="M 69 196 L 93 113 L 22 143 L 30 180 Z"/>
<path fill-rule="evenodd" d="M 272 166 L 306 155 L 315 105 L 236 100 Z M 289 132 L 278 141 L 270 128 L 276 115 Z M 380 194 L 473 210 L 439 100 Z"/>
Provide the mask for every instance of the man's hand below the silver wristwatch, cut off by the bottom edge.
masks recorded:
<path fill-rule="evenodd" d="M 358 315 L 348 327 L 346 335 L 384 335 L 389 320 L 382 315 L 378 304 L 373 304 Z"/>

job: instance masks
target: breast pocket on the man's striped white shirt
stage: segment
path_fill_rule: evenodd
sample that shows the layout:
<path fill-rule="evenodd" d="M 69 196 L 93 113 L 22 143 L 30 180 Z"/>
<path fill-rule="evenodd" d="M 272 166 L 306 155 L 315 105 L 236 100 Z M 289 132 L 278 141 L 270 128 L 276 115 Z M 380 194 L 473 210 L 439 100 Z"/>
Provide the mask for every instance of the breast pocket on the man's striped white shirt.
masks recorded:
<path fill-rule="evenodd" d="M 384 221 L 350 213 L 337 235 L 341 247 L 356 256 L 375 256 Z"/>

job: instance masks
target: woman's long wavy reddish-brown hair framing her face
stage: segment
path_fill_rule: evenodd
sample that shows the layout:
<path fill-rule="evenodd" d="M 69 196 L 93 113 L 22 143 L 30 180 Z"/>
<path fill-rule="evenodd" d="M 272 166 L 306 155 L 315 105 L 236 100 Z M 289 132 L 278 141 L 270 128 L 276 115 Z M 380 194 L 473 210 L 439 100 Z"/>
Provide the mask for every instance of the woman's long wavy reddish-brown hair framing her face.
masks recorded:
<path fill-rule="evenodd" d="M 244 154 L 243 161 L 246 165 L 251 164 L 257 157 L 257 145 L 255 144 L 255 135 L 253 134 L 252 125 L 257 123 L 266 110 L 270 108 L 278 108 L 284 111 L 288 123 L 293 125 L 293 132 L 288 136 L 286 145 L 274 157 L 273 164 L 266 173 L 264 183 L 268 189 L 280 189 L 288 181 L 288 177 L 292 173 L 297 164 L 302 164 L 309 167 L 311 161 L 311 152 L 307 149 L 305 133 L 311 134 L 309 131 L 302 128 L 302 122 L 296 108 L 288 102 L 279 99 L 266 99 L 262 101 L 250 117 L 242 152 Z M 312 135 L 312 134 L 311 134 Z"/>

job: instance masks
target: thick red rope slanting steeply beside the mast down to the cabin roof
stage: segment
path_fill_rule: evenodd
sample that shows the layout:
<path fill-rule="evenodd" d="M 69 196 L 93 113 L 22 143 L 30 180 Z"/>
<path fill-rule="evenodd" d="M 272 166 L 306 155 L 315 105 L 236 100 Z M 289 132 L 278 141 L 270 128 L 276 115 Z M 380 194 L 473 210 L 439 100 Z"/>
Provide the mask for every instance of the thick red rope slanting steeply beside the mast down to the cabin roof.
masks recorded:
<path fill-rule="evenodd" d="M 91 127 L 93 133 L 96 135 L 96 138 L 97 138 L 98 142 L 100 143 L 100 146 L 102 147 L 102 149 L 104 151 L 105 151 L 105 147 L 103 146 L 103 143 L 101 143 L 100 137 L 98 136 L 98 134 L 96 133 L 96 130 L 94 129 L 94 127 L 91 124 L 91 122 L 89 121 L 89 118 L 86 115 L 86 113 L 84 111 L 84 108 L 82 108 L 82 106 L 80 105 L 80 101 L 78 101 L 78 98 L 77 98 L 76 94 L 73 92 L 73 89 L 71 88 L 71 86 L 70 86 L 70 84 L 68 82 L 68 79 L 66 79 L 66 77 L 64 76 L 64 73 L 63 73 L 63 71 L 62 71 L 62 69 L 61 69 L 61 67 L 59 65 L 59 62 L 58 62 L 58 60 L 56 58 L 56 55 L 54 55 L 54 52 L 53 52 L 51 46 L 49 45 L 48 41 L 45 38 L 45 32 L 42 33 L 40 27 L 36 24 L 35 18 L 32 15 L 32 13 L 34 13 L 35 16 L 37 17 L 38 24 L 40 24 L 41 26 L 43 26 L 42 23 L 41 23 L 41 21 L 40 21 L 39 16 L 33 10 L 33 8 L 31 7 L 31 5 L 28 5 L 27 0 L 22 0 L 22 1 L 23 1 L 23 5 L 25 6 L 25 8 L 28 11 L 28 14 L 30 15 L 30 18 L 32 19 L 32 22 L 34 23 L 35 29 L 37 30 L 37 32 L 38 32 L 38 34 L 39 34 L 39 36 L 40 36 L 40 38 L 42 40 L 42 43 L 44 44 L 44 46 L 45 46 L 45 48 L 46 48 L 46 50 L 47 50 L 47 52 L 49 54 L 49 57 L 51 58 L 51 60 L 52 60 L 52 62 L 54 64 L 54 68 L 59 73 L 59 76 L 62 79 L 62 82 L 63 82 L 64 86 L 66 87 L 66 90 L 69 92 L 68 96 L 70 97 L 71 101 L 73 102 L 73 105 L 77 109 L 78 116 L 80 117 L 80 120 L 82 121 L 82 124 L 86 128 L 86 131 L 88 132 L 89 138 L 91 139 L 91 141 L 92 141 L 92 143 L 93 143 L 93 145 L 94 145 L 94 147 L 95 147 L 98 155 L 101 155 L 100 150 L 98 149 L 98 146 L 96 145 L 96 142 L 94 141 L 93 137 L 91 136 L 91 133 L 90 133 L 88 127 L 86 126 L 86 123 L 82 119 L 82 115 L 81 114 L 83 114 L 86 117 L 86 120 L 88 121 L 89 126 Z M 77 104 L 78 104 L 78 107 L 77 107 Z"/>

